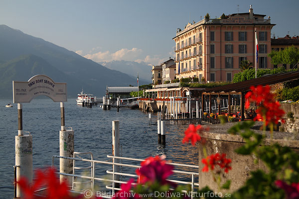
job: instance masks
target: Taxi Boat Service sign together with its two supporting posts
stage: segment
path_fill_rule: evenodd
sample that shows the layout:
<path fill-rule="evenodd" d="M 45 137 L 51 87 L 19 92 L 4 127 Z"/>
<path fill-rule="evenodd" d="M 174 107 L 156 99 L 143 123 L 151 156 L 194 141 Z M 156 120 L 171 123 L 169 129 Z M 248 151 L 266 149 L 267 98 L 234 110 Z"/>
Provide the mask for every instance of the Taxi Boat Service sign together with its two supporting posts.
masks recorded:
<path fill-rule="evenodd" d="M 51 78 L 45 75 L 36 75 L 28 80 L 28 82 L 18 82 L 12 81 L 13 89 L 13 103 L 17 103 L 18 111 L 18 132 L 15 136 L 15 175 L 16 181 L 20 179 L 21 176 L 25 176 L 28 180 L 29 185 L 32 183 L 32 135 L 23 134 L 23 121 L 22 121 L 22 103 L 29 103 L 33 98 L 37 96 L 47 96 L 52 99 L 54 102 L 60 102 L 61 107 L 61 131 L 72 131 L 65 130 L 64 124 L 64 104 L 63 102 L 67 101 L 67 88 L 66 83 L 55 83 Z M 61 137 L 60 137 L 61 139 Z M 72 142 L 72 143 L 71 143 Z M 64 150 L 67 150 L 70 157 L 73 156 L 74 149 L 74 139 L 71 139 L 67 142 L 70 147 L 64 147 Z M 64 142 L 65 144 L 65 142 Z M 72 149 L 69 150 L 69 149 Z M 61 153 L 61 151 L 60 151 Z M 65 159 L 60 159 L 64 161 Z M 60 162 L 61 165 L 61 162 Z M 66 165 L 66 164 L 62 164 Z M 73 165 L 69 164 L 67 167 L 72 167 Z M 65 169 L 64 169 L 65 170 Z M 66 169 L 69 171 L 70 169 Z M 61 168 L 60 168 L 61 171 Z M 15 182 L 16 183 L 16 182 Z M 15 184 L 15 198 L 20 198 L 21 192 L 17 184 Z"/>

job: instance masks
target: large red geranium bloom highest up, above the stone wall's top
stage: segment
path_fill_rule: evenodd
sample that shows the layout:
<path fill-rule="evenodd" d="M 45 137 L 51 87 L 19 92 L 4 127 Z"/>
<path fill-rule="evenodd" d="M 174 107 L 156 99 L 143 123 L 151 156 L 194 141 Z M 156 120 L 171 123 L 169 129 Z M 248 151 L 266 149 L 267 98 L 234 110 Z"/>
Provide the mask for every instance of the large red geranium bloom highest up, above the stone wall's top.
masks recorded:
<path fill-rule="evenodd" d="M 270 92 L 270 87 L 261 85 L 250 87 L 251 91 L 245 95 L 246 103 L 245 108 L 249 108 L 250 102 L 256 102 L 259 108 L 257 109 L 257 116 L 254 120 L 266 119 L 266 125 L 269 123 L 277 124 L 282 119 L 285 111 L 280 108 L 280 103 L 276 101 L 275 95 Z M 264 118 L 263 118 L 264 117 Z"/>

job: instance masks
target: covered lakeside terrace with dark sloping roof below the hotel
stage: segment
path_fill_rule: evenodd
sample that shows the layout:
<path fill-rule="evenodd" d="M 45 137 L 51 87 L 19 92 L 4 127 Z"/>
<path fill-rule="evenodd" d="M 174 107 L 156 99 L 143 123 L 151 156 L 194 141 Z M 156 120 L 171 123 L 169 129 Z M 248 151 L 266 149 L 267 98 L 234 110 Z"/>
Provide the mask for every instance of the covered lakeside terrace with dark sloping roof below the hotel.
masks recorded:
<path fill-rule="evenodd" d="M 149 105 L 150 103 L 156 103 L 156 111 L 165 111 L 167 109 L 167 106 L 169 107 L 170 105 L 170 109 L 168 108 L 168 112 L 170 113 L 171 111 L 174 112 L 174 103 L 177 101 L 179 104 L 178 112 L 191 112 L 192 108 L 196 108 L 196 101 L 200 101 L 200 108 L 202 110 L 202 113 L 214 112 L 218 114 L 221 114 L 221 110 L 225 106 L 225 101 L 227 101 L 226 104 L 228 115 L 231 115 L 233 113 L 233 109 L 231 107 L 233 105 L 233 102 L 235 102 L 235 114 L 237 113 L 236 106 L 239 105 L 241 111 L 241 120 L 244 120 L 244 97 L 246 92 L 250 90 L 251 86 L 256 87 L 258 85 L 274 85 L 277 83 L 284 83 L 296 79 L 299 79 L 299 71 L 268 75 L 257 79 L 214 88 L 175 87 L 175 85 L 169 84 L 165 85 L 165 87 L 163 88 L 146 90 L 146 98 L 142 99 L 142 101 L 149 101 Z M 173 101 L 172 104 L 171 101 Z M 188 102 L 189 108 L 187 106 Z M 212 103 L 214 103 L 214 105 L 212 105 Z"/>

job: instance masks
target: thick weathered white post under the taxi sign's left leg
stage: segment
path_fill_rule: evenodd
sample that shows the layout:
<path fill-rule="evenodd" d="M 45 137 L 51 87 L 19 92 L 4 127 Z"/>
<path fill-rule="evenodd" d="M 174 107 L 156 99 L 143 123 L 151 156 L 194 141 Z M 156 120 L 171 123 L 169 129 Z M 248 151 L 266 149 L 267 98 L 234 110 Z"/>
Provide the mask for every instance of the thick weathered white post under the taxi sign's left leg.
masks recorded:
<path fill-rule="evenodd" d="M 20 177 L 25 177 L 29 185 L 32 184 L 32 135 L 16 135 L 15 136 L 15 169 L 16 181 Z M 15 198 L 20 198 L 21 190 L 16 184 Z"/>

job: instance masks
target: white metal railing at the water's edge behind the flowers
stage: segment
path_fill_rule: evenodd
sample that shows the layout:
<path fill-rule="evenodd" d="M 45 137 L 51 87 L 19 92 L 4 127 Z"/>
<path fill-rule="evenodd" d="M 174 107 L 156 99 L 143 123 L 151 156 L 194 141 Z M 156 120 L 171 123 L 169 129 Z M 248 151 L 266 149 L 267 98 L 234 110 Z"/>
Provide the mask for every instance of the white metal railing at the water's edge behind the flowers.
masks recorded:
<path fill-rule="evenodd" d="M 77 153 L 77 152 L 76 152 Z M 77 153 L 77 154 L 91 154 L 90 152 L 85 152 L 85 153 Z M 112 190 L 112 195 L 102 195 L 103 198 L 107 198 L 110 199 L 114 196 L 115 192 L 118 190 L 121 190 L 120 188 L 117 188 L 116 184 L 126 184 L 126 181 L 121 180 L 115 180 L 116 176 L 122 176 L 122 177 L 132 177 L 132 178 L 138 178 L 138 175 L 136 175 L 135 173 L 125 173 L 123 172 L 125 169 L 123 168 L 141 168 L 140 163 L 143 162 L 143 159 L 136 159 L 136 158 L 126 158 L 126 157 L 117 157 L 117 156 L 111 156 L 111 155 L 107 155 L 108 158 L 111 158 L 113 161 L 112 162 L 107 162 L 107 161 L 99 161 L 99 160 L 92 160 L 92 159 L 83 159 L 83 158 L 75 158 L 75 157 L 64 157 L 64 156 L 56 156 L 53 155 L 52 156 L 52 167 L 54 167 L 54 159 L 55 158 L 62 158 L 62 159 L 69 159 L 69 160 L 73 160 L 74 163 L 75 161 L 81 161 L 81 162 L 85 162 L 85 163 L 91 163 L 90 169 L 92 169 L 92 175 L 91 176 L 84 176 L 84 175 L 77 175 L 77 174 L 67 174 L 67 173 L 60 173 L 57 172 L 57 174 L 59 175 L 63 175 L 63 176 L 71 176 L 74 178 L 82 178 L 82 179 L 88 179 L 90 180 L 90 182 L 94 182 L 94 181 L 100 181 L 100 182 L 109 182 L 112 183 L 110 185 L 106 185 L 106 189 L 107 190 Z M 130 164 L 123 164 L 123 163 L 116 163 L 116 160 L 125 160 L 125 161 L 130 161 Z M 136 162 L 136 163 L 132 163 L 132 162 Z M 99 178 L 99 177 L 95 177 L 95 166 L 96 164 L 101 164 L 102 165 L 111 165 L 112 169 L 109 169 L 106 171 L 107 174 L 112 175 L 112 179 L 107 179 L 106 178 Z M 198 183 L 195 183 L 195 176 L 199 176 L 198 173 L 198 169 L 199 167 L 196 165 L 187 165 L 187 164 L 177 164 L 177 163 L 172 163 L 172 162 L 167 162 L 167 164 L 169 165 L 173 165 L 173 166 L 178 166 L 180 168 L 185 168 L 185 169 L 196 169 L 197 172 L 189 172 L 189 171 L 182 171 L 182 170 L 173 170 L 172 172 L 174 174 L 179 174 L 179 175 L 187 175 L 191 177 L 191 182 L 186 182 L 186 181 L 180 181 L 180 180 L 170 180 L 168 179 L 168 181 L 172 182 L 172 183 L 176 183 L 176 184 L 181 184 L 181 185 L 190 185 L 191 186 L 191 199 L 193 199 L 193 193 L 194 193 L 194 186 L 199 186 Z M 120 170 L 120 172 L 115 172 L 114 167 L 115 166 L 120 166 L 122 167 L 122 169 Z M 103 174 L 104 175 L 104 174 Z M 94 193 L 94 183 L 91 184 L 91 191 Z M 73 191 L 73 190 L 71 190 Z M 100 190 L 98 190 L 100 192 Z M 97 191 L 97 194 L 98 194 Z M 81 190 L 81 192 L 83 192 Z M 187 193 L 187 191 L 183 191 L 185 193 Z M 102 192 L 100 192 L 102 193 Z"/>

